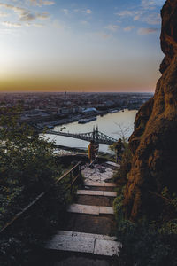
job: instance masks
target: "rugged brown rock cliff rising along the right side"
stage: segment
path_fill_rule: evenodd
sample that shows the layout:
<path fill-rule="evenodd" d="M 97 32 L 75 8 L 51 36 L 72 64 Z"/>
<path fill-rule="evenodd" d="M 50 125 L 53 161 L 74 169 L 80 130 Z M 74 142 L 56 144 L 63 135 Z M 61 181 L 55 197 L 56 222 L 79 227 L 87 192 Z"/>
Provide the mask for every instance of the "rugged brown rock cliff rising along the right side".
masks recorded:
<path fill-rule="evenodd" d="M 125 191 L 125 214 L 137 220 L 158 209 L 167 186 L 177 192 L 177 0 L 167 0 L 161 11 L 161 47 L 165 53 L 155 95 L 136 115 L 130 137 L 132 168 Z"/>

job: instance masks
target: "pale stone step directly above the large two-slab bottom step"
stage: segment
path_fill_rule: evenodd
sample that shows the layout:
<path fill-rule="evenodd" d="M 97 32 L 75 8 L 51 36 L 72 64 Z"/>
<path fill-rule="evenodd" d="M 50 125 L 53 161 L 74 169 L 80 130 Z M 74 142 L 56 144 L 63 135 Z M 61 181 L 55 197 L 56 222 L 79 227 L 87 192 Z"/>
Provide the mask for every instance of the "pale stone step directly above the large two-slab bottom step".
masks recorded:
<path fill-rule="evenodd" d="M 69 213 L 85 215 L 113 215 L 113 207 L 89 206 L 81 204 L 72 204 L 68 207 Z"/>

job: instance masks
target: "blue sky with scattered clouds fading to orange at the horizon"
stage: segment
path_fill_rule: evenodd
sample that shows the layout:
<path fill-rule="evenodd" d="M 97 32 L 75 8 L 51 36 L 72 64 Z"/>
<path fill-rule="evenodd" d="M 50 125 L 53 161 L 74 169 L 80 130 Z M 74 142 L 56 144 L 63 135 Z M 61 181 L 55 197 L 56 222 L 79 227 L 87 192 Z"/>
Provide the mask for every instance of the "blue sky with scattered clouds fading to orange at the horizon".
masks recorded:
<path fill-rule="evenodd" d="M 0 91 L 154 91 L 165 0 L 0 0 Z"/>

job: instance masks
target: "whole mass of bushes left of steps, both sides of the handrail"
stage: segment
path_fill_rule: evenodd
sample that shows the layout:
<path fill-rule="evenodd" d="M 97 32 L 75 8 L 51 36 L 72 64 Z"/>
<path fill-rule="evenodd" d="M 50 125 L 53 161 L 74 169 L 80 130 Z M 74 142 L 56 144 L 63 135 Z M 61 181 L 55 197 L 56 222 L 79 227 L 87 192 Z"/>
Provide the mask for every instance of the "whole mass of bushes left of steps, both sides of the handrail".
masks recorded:
<path fill-rule="evenodd" d="M 19 109 L 4 109 L 0 117 L 0 229 L 41 192 L 49 189 L 62 168 L 54 145 L 25 124 Z M 58 184 L 0 238 L 0 265 L 30 265 L 33 250 L 63 223 L 71 200 L 65 182 Z"/>

